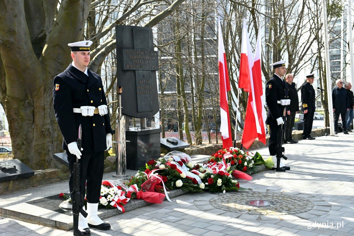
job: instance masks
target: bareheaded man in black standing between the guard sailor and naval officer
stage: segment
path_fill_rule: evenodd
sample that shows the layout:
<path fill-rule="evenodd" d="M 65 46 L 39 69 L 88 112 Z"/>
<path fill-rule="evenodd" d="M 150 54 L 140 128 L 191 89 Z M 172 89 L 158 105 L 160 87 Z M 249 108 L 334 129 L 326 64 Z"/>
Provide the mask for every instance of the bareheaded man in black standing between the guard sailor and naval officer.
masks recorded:
<path fill-rule="evenodd" d="M 289 88 L 290 105 L 287 106 L 286 127 L 285 127 L 285 143 L 298 143 L 292 139 L 292 127 L 295 124 L 295 114 L 299 111 L 299 96 L 295 87 L 294 76 L 292 74 L 285 75 L 285 81 Z"/>

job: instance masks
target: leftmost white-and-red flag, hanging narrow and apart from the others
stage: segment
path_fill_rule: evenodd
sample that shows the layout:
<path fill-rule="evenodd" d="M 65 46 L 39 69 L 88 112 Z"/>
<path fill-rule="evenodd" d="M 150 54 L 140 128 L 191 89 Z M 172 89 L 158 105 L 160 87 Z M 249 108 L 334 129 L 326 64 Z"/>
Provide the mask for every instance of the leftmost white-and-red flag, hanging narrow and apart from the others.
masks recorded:
<path fill-rule="evenodd" d="M 227 92 L 231 90 L 229 72 L 226 64 L 226 54 L 221 33 L 219 18 L 219 88 L 220 88 L 220 132 L 223 148 L 232 146 L 231 125 Z"/>

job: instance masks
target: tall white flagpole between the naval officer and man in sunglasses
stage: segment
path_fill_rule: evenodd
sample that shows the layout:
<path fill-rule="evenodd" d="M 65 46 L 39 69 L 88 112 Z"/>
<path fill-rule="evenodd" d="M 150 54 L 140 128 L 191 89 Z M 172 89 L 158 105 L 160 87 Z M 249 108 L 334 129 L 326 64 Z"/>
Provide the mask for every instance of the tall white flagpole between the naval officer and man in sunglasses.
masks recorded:
<path fill-rule="evenodd" d="M 330 54 L 328 43 L 328 28 L 327 28 L 327 6 L 326 0 L 322 0 L 322 13 L 323 13 L 323 30 L 325 39 L 325 63 L 326 63 L 326 81 L 327 81 L 327 98 L 330 120 L 330 134 L 334 135 L 334 123 L 333 123 L 333 104 L 332 104 L 332 80 L 331 80 L 331 68 L 330 68 Z"/>

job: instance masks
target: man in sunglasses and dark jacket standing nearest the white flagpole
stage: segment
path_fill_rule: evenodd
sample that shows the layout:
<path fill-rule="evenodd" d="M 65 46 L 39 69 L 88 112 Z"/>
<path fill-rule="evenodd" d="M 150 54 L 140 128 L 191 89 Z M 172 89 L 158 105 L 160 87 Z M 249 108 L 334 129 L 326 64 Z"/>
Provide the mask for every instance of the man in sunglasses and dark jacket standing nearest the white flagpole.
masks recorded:
<path fill-rule="evenodd" d="M 338 132 L 338 119 L 339 115 L 342 117 L 343 133 L 349 134 L 346 124 L 346 113 L 349 110 L 349 97 L 348 92 L 343 88 L 343 81 L 341 79 L 336 80 L 337 87 L 332 89 L 332 102 L 334 112 L 334 132 Z"/>

